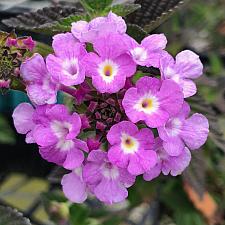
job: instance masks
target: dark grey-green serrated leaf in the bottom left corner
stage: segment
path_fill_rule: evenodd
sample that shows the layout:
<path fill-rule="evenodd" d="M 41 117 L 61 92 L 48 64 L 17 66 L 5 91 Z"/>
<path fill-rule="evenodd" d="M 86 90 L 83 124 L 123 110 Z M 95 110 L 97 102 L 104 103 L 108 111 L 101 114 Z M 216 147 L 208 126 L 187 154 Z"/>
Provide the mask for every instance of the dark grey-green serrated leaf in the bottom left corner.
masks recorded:
<path fill-rule="evenodd" d="M 31 225 L 16 209 L 0 206 L 0 225 Z"/>

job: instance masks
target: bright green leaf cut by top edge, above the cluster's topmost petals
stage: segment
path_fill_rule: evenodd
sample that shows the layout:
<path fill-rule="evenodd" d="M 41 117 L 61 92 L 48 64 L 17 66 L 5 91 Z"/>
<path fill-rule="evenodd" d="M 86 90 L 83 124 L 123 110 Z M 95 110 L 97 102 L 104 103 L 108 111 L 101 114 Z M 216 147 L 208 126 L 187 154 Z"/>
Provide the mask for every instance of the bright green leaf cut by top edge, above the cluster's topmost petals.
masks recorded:
<path fill-rule="evenodd" d="M 82 6 L 90 13 L 103 11 L 112 4 L 113 0 L 80 0 Z"/>

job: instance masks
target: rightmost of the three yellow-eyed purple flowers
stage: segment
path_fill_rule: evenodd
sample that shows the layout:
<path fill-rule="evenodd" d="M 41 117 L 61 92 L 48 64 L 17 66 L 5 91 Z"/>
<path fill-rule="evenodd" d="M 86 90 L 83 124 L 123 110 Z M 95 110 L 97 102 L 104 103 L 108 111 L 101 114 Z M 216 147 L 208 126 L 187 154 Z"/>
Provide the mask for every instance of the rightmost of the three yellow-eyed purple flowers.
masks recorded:
<path fill-rule="evenodd" d="M 142 77 L 136 87 L 129 88 L 123 99 L 126 115 L 136 123 L 144 120 L 152 128 L 159 127 L 179 112 L 183 94 L 173 81 Z"/>

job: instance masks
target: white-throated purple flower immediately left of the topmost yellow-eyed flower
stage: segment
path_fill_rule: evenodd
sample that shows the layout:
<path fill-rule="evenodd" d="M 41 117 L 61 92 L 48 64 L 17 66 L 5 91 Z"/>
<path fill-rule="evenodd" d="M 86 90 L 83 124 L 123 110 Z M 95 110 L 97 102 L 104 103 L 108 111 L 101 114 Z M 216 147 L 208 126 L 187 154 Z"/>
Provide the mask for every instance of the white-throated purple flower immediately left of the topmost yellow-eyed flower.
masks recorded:
<path fill-rule="evenodd" d="M 83 44 L 71 33 L 57 34 L 52 43 L 55 55 L 48 55 L 46 64 L 55 82 L 71 86 L 84 82 L 85 69 L 82 58 L 86 55 Z"/>

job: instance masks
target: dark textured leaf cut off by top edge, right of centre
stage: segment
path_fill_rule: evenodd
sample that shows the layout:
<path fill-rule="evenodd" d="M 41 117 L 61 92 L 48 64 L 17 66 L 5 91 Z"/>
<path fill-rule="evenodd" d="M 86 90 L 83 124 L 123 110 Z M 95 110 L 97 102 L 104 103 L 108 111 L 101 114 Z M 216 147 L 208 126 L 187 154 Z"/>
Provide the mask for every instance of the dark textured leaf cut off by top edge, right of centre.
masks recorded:
<path fill-rule="evenodd" d="M 128 17 L 128 22 L 144 27 L 147 32 L 154 30 L 168 19 L 183 3 L 181 0 L 136 0 L 141 9 Z"/>

